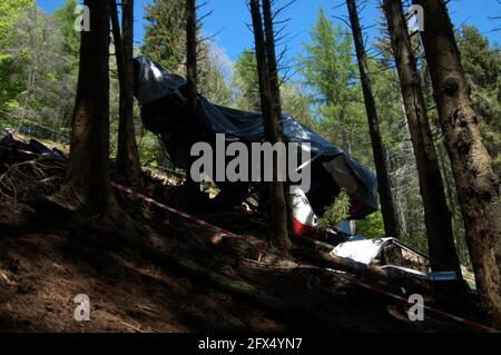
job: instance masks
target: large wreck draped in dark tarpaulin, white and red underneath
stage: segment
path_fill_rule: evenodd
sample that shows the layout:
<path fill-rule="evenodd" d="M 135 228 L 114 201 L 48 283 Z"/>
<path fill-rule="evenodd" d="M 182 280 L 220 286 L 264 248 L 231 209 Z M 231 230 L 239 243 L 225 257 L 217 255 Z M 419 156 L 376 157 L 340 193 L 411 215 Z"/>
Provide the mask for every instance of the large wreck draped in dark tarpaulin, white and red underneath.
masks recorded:
<path fill-rule="evenodd" d="M 228 144 L 264 141 L 259 114 L 217 106 L 202 95 L 198 110 L 193 112 L 186 100 L 186 83 L 153 60 L 135 59 L 135 95 L 144 126 L 159 136 L 176 167 L 189 170 L 193 144 L 215 145 L 217 135 L 224 134 Z M 299 186 L 291 188 L 296 235 L 314 229 L 317 216 L 324 214 L 342 189 L 351 197 L 351 218 L 361 219 L 377 210 L 377 181 L 370 169 L 288 115 L 283 115 L 282 127 L 285 141 L 311 147 L 310 160 L 299 162 L 302 167 L 310 165 L 311 188 L 307 191 Z M 252 185 L 217 184 L 220 195 L 229 197 L 234 206 L 249 196 Z"/>

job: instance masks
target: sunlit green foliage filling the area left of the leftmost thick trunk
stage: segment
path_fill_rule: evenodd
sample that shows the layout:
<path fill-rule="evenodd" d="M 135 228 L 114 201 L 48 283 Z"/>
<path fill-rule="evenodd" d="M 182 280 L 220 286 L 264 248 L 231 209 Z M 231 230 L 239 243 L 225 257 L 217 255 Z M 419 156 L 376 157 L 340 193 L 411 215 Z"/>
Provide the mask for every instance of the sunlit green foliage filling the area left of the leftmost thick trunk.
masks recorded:
<path fill-rule="evenodd" d="M 67 140 L 60 131 L 69 127 L 77 71 L 71 70 L 71 58 L 63 50 L 62 27 L 33 1 L 17 1 L 9 9 L 16 10 L 10 13 L 16 19 L 7 21 L 8 28 L 2 23 L 0 36 L 2 125 L 37 138 Z"/>

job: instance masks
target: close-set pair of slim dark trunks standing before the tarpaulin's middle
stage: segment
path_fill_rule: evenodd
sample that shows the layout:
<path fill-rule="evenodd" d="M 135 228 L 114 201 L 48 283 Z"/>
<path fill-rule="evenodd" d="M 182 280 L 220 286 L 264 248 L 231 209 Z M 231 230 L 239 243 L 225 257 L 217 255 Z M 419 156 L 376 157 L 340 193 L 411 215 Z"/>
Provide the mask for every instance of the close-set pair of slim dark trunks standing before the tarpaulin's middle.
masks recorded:
<path fill-rule="evenodd" d="M 263 124 L 265 127 L 265 139 L 272 144 L 282 142 L 281 128 L 281 105 L 278 75 L 275 58 L 275 43 L 273 24 L 266 23 L 265 33 L 263 30 L 263 18 L 259 9 L 259 1 L 250 1 L 250 12 L 253 18 L 254 39 L 256 45 L 257 72 L 259 79 L 259 93 L 263 110 Z M 265 12 L 271 14 L 271 3 L 266 2 Z M 271 17 L 268 18 L 268 20 Z M 273 47 L 273 48 L 272 48 Z M 269 61 L 273 61 L 271 63 Z M 271 75 L 272 73 L 272 75 Z M 287 207 L 285 204 L 284 184 L 278 181 L 278 157 L 273 161 L 274 181 L 269 186 L 272 243 L 283 252 L 288 252 L 291 240 L 287 228 Z"/>

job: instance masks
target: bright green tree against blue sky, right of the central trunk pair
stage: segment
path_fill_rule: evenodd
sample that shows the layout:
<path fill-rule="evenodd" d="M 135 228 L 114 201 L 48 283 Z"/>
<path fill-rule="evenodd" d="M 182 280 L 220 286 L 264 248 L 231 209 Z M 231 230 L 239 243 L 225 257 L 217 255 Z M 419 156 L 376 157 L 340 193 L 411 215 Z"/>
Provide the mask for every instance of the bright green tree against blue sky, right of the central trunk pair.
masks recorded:
<path fill-rule="evenodd" d="M 321 8 L 296 68 L 316 109 L 318 132 L 361 162 L 371 164 L 367 119 L 347 32 L 334 26 Z"/>

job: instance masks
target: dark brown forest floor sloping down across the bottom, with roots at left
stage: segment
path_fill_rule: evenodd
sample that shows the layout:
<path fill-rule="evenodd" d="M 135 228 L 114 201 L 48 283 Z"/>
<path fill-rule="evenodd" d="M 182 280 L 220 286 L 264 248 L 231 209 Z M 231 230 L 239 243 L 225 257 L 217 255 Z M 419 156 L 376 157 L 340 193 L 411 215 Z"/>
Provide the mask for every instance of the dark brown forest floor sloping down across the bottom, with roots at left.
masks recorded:
<path fill-rule="evenodd" d="M 411 322 L 407 305 L 358 287 L 354 275 L 257 257 L 118 191 L 129 216 L 121 226 L 71 210 L 50 197 L 62 174 L 50 158 L 0 149 L 0 332 L 474 331 L 432 313 Z M 175 204 L 179 187 L 146 180 L 145 194 Z M 248 213 L 204 218 L 266 235 Z M 79 294 L 90 298 L 90 322 L 73 318 Z"/>

